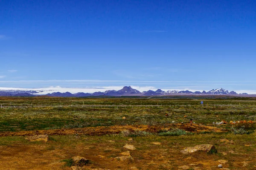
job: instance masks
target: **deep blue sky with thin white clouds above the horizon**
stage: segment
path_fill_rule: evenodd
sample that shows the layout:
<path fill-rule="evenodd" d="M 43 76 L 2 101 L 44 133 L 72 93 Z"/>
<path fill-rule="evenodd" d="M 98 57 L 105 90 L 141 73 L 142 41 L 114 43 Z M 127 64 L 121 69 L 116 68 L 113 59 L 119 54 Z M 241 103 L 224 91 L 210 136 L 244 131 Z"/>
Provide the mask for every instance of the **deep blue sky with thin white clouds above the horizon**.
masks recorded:
<path fill-rule="evenodd" d="M 256 91 L 255 0 L 1 0 L 0 87 Z"/>

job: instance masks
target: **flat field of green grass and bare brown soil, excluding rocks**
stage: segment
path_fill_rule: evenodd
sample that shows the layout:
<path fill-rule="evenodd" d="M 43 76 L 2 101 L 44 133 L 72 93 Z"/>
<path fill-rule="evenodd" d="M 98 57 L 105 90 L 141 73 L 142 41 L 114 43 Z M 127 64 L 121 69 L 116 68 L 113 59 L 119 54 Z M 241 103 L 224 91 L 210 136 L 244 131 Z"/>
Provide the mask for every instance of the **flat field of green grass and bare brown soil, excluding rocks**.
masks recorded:
<path fill-rule="evenodd" d="M 0 97 L 0 104 L 1 170 L 256 169 L 256 98 Z M 222 120 L 228 124 L 212 123 Z M 49 141 L 25 139 L 36 134 Z M 198 144 L 217 152 L 180 152 Z M 90 163 L 70 167 L 73 156 Z"/>

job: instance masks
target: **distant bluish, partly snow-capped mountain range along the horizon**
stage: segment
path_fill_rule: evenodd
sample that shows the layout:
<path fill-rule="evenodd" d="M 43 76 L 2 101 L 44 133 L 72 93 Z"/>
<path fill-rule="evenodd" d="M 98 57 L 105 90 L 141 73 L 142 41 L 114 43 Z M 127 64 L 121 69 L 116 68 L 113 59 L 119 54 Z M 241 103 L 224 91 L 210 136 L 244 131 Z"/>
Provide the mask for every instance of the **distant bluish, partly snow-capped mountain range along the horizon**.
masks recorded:
<path fill-rule="evenodd" d="M 28 91 L 28 90 L 0 90 L 0 96 L 38 96 L 41 91 Z M 94 92 L 83 93 L 79 92 L 76 94 L 71 94 L 70 92 L 54 92 L 45 94 L 46 96 L 56 96 L 56 97 L 85 97 L 85 96 L 168 96 L 168 95 L 232 95 L 232 96 L 246 96 L 248 94 L 237 94 L 235 91 L 227 91 L 223 88 L 212 89 L 211 91 L 162 91 L 157 89 L 156 91 L 148 90 L 140 92 L 131 86 L 125 86 L 121 90 L 108 90 L 105 92 Z"/>

